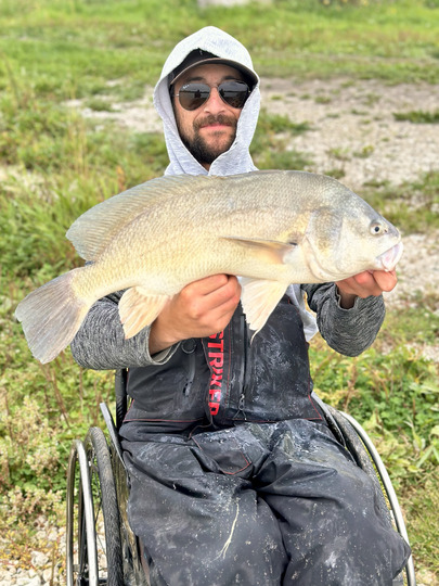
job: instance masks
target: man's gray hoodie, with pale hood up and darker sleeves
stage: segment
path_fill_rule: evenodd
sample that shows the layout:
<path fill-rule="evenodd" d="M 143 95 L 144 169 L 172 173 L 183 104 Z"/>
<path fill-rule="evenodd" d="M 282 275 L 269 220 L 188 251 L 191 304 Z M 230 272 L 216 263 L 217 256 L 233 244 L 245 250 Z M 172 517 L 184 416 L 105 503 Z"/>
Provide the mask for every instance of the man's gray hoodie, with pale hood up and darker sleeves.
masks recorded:
<path fill-rule="evenodd" d="M 164 123 L 166 146 L 170 160 L 165 175 L 207 175 L 207 170 L 192 156 L 180 139 L 169 97 L 169 74 L 195 49 L 238 62 L 254 72 L 251 58 L 245 47 L 217 27 L 202 28 L 176 46 L 164 65 L 154 90 L 154 104 Z M 260 107 L 259 78 L 256 73 L 255 75 L 258 84 L 242 110 L 236 138 L 229 151 L 212 163 L 209 175 L 232 175 L 256 169 L 249 153 Z M 318 313 L 317 320 L 306 307 L 305 291 L 308 294 L 310 307 Z M 300 311 L 308 341 L 315 334 L 319 324 L 328 344 L 337 352 L 350 356 L 359 354 L 373 342 L 384 318 L 382 297 L 358 298 L 352 309 L 341 309 L 333 283 L 290 285 L 287 294 Z M 86 368 L 93 369 L 141 367 L 166 362 L 178 345 L 152 357 L 149 352 L 150 328 L 144 328 L 134 337 L 125 340 L 117 306 L 120 296 L 121 292 L 114 293 L 92 306 L 72 342 L 72 352 L 76 361 Z"/>

